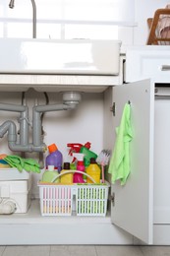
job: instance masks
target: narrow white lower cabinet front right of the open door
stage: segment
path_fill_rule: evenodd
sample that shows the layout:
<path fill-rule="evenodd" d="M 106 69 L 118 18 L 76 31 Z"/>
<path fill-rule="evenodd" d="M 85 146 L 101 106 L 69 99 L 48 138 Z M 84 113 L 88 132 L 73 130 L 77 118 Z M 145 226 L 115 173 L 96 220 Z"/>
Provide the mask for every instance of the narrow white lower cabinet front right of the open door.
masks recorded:
<path fill-rule="evenodd" d="M 167 96 L 155 99 L 154 224 L 170 224 L 170 89 L 158 94 Z"/>

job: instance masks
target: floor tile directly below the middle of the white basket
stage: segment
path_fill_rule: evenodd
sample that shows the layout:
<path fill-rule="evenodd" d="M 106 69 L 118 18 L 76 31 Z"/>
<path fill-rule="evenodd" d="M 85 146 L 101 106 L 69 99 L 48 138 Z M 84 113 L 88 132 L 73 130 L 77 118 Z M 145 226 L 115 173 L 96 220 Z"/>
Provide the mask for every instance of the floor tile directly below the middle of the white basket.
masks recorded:
<path fill-rule="evenodd" d="M 97 256 L 93 245 L 51 246 L 50 256 Z"/>

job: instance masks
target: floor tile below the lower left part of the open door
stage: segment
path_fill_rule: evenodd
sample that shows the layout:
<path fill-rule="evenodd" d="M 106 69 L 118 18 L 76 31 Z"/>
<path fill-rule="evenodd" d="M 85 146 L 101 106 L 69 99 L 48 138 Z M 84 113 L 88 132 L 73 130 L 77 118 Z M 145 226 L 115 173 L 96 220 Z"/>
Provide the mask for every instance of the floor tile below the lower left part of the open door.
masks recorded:
<path fill-rule="evenodd" d="M 139 246 L 96 246 L 97 256 L 143 256 Z"/>

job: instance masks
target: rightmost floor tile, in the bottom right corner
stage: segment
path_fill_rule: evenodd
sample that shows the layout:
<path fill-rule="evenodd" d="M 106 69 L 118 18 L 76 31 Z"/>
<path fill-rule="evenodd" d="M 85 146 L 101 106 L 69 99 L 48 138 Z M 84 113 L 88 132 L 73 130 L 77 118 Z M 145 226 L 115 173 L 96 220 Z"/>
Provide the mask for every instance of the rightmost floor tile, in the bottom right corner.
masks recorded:
<path fill-rule="evenodd" d="M 170 246 L 141 246 L 143 256 L 170 256 Z"/>

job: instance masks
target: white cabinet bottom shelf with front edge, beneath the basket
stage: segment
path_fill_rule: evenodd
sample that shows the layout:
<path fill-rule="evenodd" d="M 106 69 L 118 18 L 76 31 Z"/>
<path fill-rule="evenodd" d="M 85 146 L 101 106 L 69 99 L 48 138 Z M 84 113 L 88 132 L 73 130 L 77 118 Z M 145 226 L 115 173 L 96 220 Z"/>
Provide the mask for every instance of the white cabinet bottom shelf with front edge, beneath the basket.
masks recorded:
<path fill-rule="evenodd" d="M 106 217 L 41 217 L 39 200 L 27 214 L 1 216 L 0 245 L 133 244 L 133 237 Z"/>

